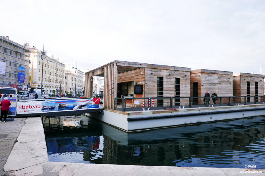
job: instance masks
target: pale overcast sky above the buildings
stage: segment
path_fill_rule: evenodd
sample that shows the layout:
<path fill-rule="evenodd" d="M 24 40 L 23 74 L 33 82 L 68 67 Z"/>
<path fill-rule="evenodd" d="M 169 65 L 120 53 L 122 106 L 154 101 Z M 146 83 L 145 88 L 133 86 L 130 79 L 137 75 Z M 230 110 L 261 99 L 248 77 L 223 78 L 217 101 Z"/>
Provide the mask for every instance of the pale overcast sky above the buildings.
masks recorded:
<path fill-rule="evenodd" d="M 0 35 L 93 70 L 114 60 L 265 74 L 264 0 L 0 0 Z"/>

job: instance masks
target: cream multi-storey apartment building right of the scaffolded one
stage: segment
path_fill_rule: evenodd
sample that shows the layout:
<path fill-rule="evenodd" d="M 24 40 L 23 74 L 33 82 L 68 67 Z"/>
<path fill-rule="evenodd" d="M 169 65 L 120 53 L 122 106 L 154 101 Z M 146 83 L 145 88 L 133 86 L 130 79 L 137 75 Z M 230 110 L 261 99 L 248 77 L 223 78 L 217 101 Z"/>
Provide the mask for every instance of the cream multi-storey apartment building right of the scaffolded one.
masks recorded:
<path fill-rule="evenodd" d="M 41 89 L 42 93 L 65 93 L 65 65 L 59 62 L 59 58 L 47 56 L 47 51 L 44 50 L 44 58 L 42 60 L 43 52 L 36 47 L 29 46 L 25 43 L 26 48 L 30 51 L 29 54 L 29 83 L 31 89 Z M 43 70 L 42 70 L 43 62 Z M 43 71 L 43 72 L 42 72 Z M 43 75 L 43 77 L 42 77 Z"/>

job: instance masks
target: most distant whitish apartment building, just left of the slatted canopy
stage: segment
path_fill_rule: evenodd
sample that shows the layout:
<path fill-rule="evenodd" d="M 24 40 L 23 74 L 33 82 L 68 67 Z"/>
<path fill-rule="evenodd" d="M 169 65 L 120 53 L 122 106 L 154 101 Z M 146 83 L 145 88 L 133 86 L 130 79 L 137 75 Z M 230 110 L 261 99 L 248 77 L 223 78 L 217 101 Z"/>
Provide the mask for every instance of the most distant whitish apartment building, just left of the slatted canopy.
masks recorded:
<path fill-rule="evenodd" d="M 71 65 L 65 66 L 66 92 L 73 92 L 73 95 L 80 95 L 84 90 L 84 72 Z"/>

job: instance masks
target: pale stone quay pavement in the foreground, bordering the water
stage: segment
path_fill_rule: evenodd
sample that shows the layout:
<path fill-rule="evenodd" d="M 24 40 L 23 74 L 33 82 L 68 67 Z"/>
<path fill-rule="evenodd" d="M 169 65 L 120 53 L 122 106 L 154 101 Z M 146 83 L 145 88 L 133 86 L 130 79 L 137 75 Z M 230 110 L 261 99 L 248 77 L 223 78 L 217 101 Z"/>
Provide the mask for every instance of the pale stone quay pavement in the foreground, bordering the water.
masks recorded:
<path fill-rule="evenodd" d="M 25 123 L 24 123 L 25 122 Z M 1 133 L 8 140 L 1 141 L 3 149 L 2 175 L 10 176 L 83 176 L 83 175 L 130 175 L 130 176 L 234 176 L 264 175 L 265 169 L 230 169 L 206 167 L 162 167 L 134 165 L 104 165 L 84 163 L 49 162 L 41 118 L 19 118 L 0 123 Z M 19 135 L 18 135 L 19 133 Z M 9 136 L 10 134 L 10 136 Z M 17 137 L 18 136 L 18 137 Z M 14 144 L 17 137 L 17 142 Z M 12 148 L 13 146 L 13 148 Z M 12 150 L 11 150 L 12 149 Z M 11 152 L 10 152 L 11 150 Z M 1 155 L 0 154 L 0 155 Z M 8 156 L 8 157 L 7 157 Z M 7 160 L 6 160 L 7 158 Z"/>

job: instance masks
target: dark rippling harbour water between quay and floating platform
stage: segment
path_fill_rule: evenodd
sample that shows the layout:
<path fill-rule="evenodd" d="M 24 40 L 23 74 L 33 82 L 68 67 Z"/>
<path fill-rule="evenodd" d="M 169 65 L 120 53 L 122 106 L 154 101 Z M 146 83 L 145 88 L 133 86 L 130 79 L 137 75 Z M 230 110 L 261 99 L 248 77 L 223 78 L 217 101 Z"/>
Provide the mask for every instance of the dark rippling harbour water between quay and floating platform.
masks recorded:
<path fill-rule="evenodd" d="M 44 131 L 49 161 L 265 168 L 265 116 L 129 134 L 85 116 L 61 116 Z"/>

